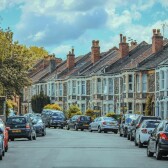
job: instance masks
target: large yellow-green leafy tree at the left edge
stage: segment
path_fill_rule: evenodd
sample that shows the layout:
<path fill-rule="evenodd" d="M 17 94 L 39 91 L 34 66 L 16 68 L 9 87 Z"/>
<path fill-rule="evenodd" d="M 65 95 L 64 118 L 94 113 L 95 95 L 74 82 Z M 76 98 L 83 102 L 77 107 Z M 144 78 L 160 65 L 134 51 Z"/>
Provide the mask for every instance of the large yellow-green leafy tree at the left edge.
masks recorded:
<path fill-rule="evenodd" d="M 0 89 L 7 94 L 21 95 L 22 88 L 30 85 L 28 70 L 33 63 L 46 55 L 43 48 L 30 47 L 13 42 L 10 29 L 0 29 Z"/>

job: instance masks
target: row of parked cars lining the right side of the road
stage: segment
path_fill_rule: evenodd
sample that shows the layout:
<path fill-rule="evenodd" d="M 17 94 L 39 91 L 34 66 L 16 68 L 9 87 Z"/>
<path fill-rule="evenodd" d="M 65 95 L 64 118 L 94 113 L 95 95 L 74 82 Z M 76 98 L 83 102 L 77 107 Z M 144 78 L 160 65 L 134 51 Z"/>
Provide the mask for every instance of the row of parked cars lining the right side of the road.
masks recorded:
<path fill-rule="evenodd" d="M 133 141 L 135 146 L 147 146 L 147 156 L 154 154 L 159 160 L 168 155 L 168 120 L 156 116 L 135 114 L 124 115 L 120 126 L 120 136 Z"/>

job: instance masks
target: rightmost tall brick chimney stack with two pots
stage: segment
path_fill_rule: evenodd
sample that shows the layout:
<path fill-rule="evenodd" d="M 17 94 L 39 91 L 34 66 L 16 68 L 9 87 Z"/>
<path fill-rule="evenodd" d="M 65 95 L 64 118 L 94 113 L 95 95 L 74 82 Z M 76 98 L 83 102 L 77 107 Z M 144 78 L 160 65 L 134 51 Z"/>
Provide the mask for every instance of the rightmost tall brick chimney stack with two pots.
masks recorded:
<path fill-rule="evenodd" d="M 153 29 L 152 53 L 156 53 L 161 49 L 163 49 L 163 36 L 160 33 L 160 29 Z"/>

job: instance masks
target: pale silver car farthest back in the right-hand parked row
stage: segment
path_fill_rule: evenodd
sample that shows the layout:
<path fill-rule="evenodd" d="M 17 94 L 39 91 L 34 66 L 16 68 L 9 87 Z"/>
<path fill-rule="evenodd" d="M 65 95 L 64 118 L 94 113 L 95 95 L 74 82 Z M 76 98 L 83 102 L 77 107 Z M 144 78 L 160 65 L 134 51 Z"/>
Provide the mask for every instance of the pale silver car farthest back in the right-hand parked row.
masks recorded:
<path fill-rule="evenodd" d="M 138 116 L 139 115 L 137 115 L 137 114 L 125 114 L 125 115 L 123 115 L 123 117 L 121 119 L 121 123 L 119 125 L 120 136 L 123 135 L 124 137 L 127 137 L 128 131 L 129 131 L 128 128 L 131 124 L 131 121 L 135 120 Z"/>

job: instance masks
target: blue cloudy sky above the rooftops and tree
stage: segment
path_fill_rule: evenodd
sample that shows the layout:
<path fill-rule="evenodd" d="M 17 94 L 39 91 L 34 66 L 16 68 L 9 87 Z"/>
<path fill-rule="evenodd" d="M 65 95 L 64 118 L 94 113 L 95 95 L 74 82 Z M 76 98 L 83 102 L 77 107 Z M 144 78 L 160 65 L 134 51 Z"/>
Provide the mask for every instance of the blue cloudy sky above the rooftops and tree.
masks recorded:
<path fill-rule="evenodd" d="M 151 43 L 152 29 L 168 38 L 168 0 L 0 0 L 0 27 L 14 40 L 44 47 L 65 60 L 91 51 L 99 40 L 101 52 L 119 45 L 119 34 Z M 129 41 L 130 42 L 130 41 Z"/>

